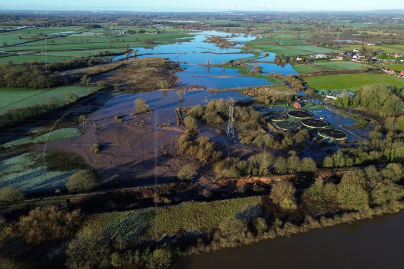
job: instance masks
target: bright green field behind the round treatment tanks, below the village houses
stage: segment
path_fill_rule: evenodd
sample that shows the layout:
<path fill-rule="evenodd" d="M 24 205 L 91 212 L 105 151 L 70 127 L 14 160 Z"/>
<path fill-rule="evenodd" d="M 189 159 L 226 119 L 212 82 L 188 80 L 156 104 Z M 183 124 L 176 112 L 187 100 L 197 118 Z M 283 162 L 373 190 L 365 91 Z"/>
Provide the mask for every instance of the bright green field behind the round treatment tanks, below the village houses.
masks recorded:
<path fill-rule="evenodd" d="M 338 89 L 360 89 L 370 84 L 386 84 L 404 88 L 404 79 L 384 74 L 343 74 L 305 78 L 304 81 L 311 89 L 316 90 L 338 90 Z"/>

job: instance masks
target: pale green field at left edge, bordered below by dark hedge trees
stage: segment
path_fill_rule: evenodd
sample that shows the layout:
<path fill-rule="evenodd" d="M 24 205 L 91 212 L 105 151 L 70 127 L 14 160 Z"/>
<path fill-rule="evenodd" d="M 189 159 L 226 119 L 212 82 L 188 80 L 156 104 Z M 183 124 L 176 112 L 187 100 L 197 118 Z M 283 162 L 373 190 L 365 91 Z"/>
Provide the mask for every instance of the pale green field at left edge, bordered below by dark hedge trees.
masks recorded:
<path fill-rule="evenodd" d="M 89 86 L 65 86 L 51 89 L 0 89 L 0 113 L 8 109 L 16 109 L 17 107 L 30 106 L 32 104 L 46 104 L 46 98 L 55 96 L 59 99 L 59 104 L 65 103 L 65 93 L 77 93 L 79 97 L 89 93 L 89 89 L 96 90 L 97 87 Z"/>

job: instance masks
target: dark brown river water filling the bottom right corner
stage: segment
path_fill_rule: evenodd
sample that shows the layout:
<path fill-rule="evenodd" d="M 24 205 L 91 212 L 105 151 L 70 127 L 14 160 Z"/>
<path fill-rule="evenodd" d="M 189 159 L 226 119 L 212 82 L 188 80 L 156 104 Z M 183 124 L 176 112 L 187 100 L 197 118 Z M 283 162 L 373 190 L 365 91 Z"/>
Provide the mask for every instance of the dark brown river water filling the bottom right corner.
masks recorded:
<path fill-rule="evenodd" d="M 173 269 L 402 268 L 404 211 L 190 256 Z"/>

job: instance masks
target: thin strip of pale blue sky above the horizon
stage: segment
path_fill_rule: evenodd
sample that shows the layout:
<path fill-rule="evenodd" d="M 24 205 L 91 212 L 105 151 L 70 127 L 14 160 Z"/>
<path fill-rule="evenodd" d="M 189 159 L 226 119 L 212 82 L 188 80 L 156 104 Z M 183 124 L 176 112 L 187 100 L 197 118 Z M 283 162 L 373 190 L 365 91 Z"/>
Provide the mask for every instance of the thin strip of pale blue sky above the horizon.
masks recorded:
<path fill-rule="evenodd" d="M 2 3 L 3 2 L 3 3 Z M 402 0 L 17 0 L 0 1 L 1 10 L 74 11 L 340 11 L 404 10 Z"/>

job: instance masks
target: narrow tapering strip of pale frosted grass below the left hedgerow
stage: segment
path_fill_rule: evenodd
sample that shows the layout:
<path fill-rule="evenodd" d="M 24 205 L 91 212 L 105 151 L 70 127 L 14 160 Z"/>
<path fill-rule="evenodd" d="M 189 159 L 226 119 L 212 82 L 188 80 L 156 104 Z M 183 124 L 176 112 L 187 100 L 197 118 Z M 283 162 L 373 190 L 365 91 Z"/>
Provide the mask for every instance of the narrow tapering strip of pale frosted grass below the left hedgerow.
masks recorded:
<path fill-rule="evenodd" d="M 50 141 L 72 138 L 72 137 L 76 137 L 76 136 L 80 136 L 80 135 L 81 135 L 81 132 L 80 132 L 79 128 L 62 128 L 62 129 L 58 129 L 58 130 L 37 136 L 34 139 L 31 139 L 30 137 L 22 137 L 17 140 L 8 142 L 4 145 L 5 146 L 19 146 L 19 145 L 28 144 L 28 143 L 39 144 L 39 143 L 45 143 L 45 142 L 50 142 Z"/>

